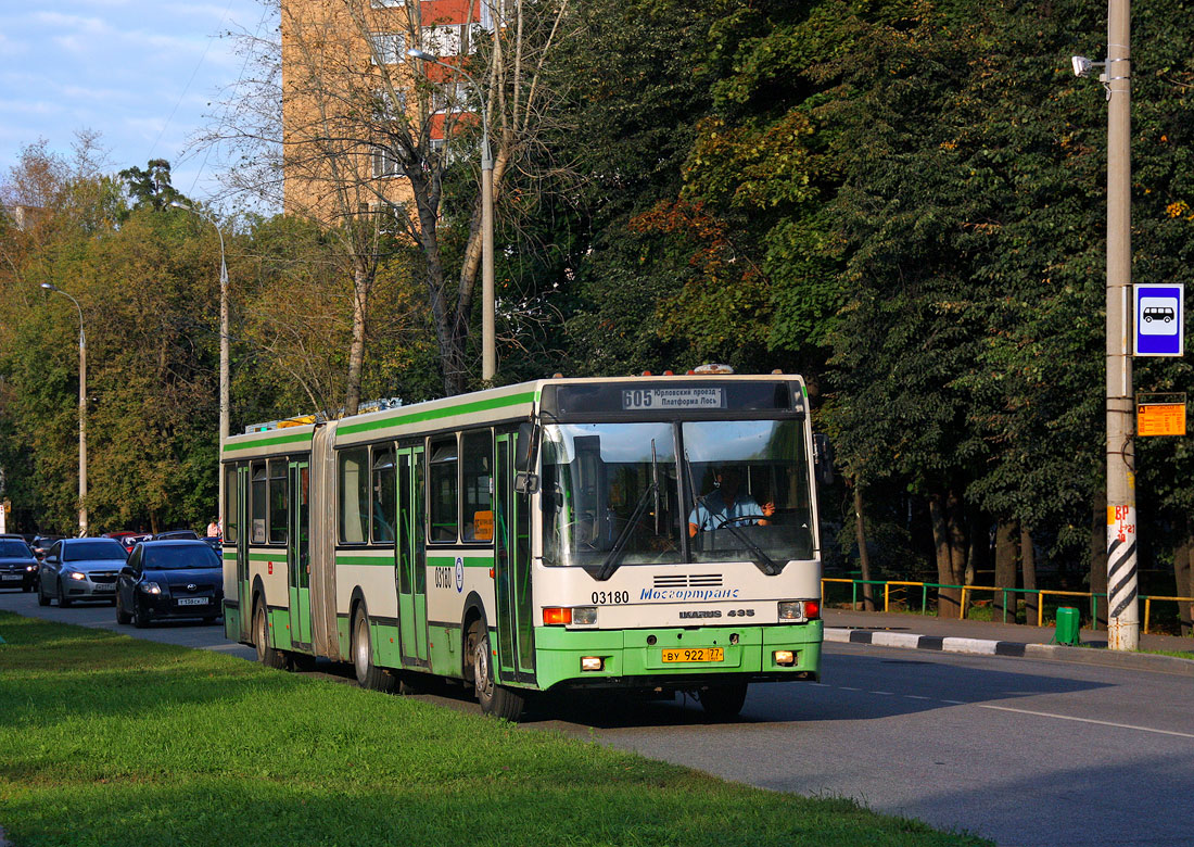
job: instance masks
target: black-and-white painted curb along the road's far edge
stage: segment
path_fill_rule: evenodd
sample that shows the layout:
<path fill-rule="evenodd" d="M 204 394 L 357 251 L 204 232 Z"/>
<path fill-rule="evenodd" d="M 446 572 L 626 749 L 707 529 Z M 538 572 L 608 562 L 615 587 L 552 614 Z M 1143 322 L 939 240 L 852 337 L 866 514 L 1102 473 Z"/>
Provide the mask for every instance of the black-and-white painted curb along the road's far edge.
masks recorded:
<path fill-rule="evenodd" d="M 1076 664 L 1096 664 L 1109 668 L 1132 668 L 1180 676 L 1194 676 L 1194 659 L 1153 653 L 1119 653 L 1090 647 L 1070 647 L 1060 644 L 1021 644 L 993 642 L 981 638 L 952 636 L 917 636 L 909 632 L 874 630 L 825 628 L 825 640 L 841 644 L 870 644 L 876 647 L 933 650 L 970 656 L 1007 656 L 1011 658 L 1045 658 Z"/>

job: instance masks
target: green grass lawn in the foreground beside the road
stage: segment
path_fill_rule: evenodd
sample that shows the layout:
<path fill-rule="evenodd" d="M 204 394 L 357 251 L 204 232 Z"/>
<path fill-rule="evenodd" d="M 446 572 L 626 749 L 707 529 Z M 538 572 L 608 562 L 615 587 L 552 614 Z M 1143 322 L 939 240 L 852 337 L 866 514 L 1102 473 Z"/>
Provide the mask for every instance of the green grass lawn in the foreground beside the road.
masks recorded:
<path fill-rule="evenodd" d="M 6 613 L 0 637 L 16 847 L 987 843 L 210 651 Z"/>

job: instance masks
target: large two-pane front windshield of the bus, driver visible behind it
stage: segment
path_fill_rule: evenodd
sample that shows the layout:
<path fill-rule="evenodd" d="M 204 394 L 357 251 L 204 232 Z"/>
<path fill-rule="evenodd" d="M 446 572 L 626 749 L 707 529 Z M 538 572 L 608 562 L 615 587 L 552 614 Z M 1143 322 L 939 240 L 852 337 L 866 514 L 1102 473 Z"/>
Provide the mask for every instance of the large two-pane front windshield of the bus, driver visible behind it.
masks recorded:
<path fill-rule="evenodd" d="M 544 564 L 812 558 L 800 421 L 553 424 L 542 456 Z"/>

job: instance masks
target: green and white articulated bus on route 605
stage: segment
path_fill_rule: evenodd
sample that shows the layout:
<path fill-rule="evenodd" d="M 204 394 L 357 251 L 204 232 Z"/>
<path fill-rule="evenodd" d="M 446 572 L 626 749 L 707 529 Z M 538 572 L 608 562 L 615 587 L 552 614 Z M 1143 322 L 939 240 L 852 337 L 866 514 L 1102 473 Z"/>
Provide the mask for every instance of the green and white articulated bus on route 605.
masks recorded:
<path fill-rule="evenodd" d="M 451 677 L 510 719 L 586 688 L 726 718 L 819 676 L 799 376 L 540 380 L 250 431 L 222 465 L 224 627 L 266 664 Z"/>

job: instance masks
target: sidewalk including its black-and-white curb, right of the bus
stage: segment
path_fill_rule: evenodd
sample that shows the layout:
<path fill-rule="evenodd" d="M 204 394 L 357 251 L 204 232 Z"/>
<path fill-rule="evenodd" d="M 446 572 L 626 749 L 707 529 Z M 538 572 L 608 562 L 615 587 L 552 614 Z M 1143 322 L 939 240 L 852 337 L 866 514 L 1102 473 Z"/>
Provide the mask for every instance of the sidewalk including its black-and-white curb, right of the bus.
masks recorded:
<path fill-rule="evenodd" d="M 1082 664 L 1135 668 L 1194 677 L 1194 638 L 1141 634 L 1140 650 L 1182 652 L 1189 658 L 1107 650 L 1107 633 L 1083 630 L 1082 646 L 1051 644 L 1052 627 L 931 615 L 824 609 L 825 640 L 978 656 L 1027 656 Z"/>

